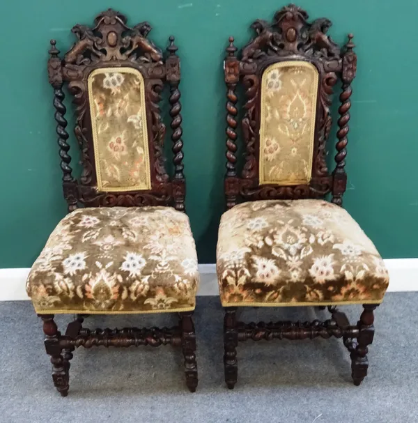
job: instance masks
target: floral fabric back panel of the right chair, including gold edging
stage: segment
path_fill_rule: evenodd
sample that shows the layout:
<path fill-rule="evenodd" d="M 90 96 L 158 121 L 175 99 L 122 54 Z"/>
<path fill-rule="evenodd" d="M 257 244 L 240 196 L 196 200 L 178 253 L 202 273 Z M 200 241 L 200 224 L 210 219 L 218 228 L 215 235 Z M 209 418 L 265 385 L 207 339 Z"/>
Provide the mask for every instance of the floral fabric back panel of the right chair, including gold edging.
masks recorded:
<path fill-rule="evenodd" d="M 261 82 L 261 184 L 311 180 L 318 70 L 304 61 L 270 65 Z"/>

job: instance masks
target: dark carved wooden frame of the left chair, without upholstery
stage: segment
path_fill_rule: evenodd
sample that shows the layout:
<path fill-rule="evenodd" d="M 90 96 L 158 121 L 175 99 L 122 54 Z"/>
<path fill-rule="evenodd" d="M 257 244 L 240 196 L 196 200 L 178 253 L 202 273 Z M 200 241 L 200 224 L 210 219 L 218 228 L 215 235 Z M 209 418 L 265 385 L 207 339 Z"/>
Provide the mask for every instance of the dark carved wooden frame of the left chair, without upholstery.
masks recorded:
<path fill-rule="evenodd" d="M 89 207 L 100 206 L 173 206 L 185 212 L 185 176 L 183 174 L 182 117 L 180 114 L 180 59 L 174 38 L 169 38 L 168 55 L 147 38 L 151 30 L 148 22 L 133 28 L 126 25 L 127 19 L 115 10 L 106 10 L 94 20 L 93 28 L 75 25 L 72 32 L 77 42 L 64 59 L 59 57 L 56 41 L 51 40 L 49 50 L 49 83 L 54 89 L 55 120 L 57 123 L 59 155 L 63 171 L 63 193 L 68 211 L 75 210 L 80 203 Z M 145 97 L 150 149 L 151 187 L 149 191 L 98 192 L 95 174 L 93 135 L 88 104 L 88 75 L 98 68 L 129 66 L 141 72 L 145 82 Z M 72 176 L 70 146 L 65 120 L 63 84 L 74 96 L 76 105 L 75 136 L 82 151 L 82 176 L 79 181 Z M 174 175 L 169 178 L 164 167 L 163 141 L 165 126 L 160 115 L 161 91 L 169 84 L 169 114 L 171 116 L 171 140 L 173 141 Z M 52 378 L 56 389 L 65 397 L 68 394 L 70 360 L 75 348 L 84 346 L 181 346 L 185 358 L 187 387 L 194 392 L 197 387 L 196 334 L 193 312 L 179 313 L 179 324 L 173 328 L 125 328 L 122 330 L 83 328 L 86 315 L 78 315 L 65 331 L 59 332 L 53 314 L 42 314 L 45 332 L 45 348 L 51 355 Z"/>

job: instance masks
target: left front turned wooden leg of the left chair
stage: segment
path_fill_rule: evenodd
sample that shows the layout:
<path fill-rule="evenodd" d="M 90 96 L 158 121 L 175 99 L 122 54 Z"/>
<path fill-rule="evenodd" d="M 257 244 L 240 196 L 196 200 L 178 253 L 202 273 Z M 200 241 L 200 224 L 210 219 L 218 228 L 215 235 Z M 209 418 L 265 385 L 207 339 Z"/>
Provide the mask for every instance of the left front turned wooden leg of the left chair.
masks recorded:
<path fill-rule="evenodd" d="M 66 397 L 69 388 L 68 371 L 70 370 L 69 361 L 72 358 L 72 351 L 66 351 L 65 355 L 67 357 L 65 358 L 61 354 L 62 350 L 59 346 L 61 333 L 54 322 L 54 314 L 42 314 L 40 318 L 42 318 L 43 331 L 45 333 L 45 349 L 47 350 L 47 354 L 51 355 L 52 380 L 54 380 L 54 385 L 59 393 L 63 397 Z"/>

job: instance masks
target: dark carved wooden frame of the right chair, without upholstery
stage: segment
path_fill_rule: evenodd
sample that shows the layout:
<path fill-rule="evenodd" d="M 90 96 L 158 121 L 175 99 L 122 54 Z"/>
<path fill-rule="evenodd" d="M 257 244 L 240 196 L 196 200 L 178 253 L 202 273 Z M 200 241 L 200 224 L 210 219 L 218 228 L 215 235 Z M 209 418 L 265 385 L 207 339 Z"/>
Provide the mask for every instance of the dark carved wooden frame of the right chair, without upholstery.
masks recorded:
<path fill-rule="evenodd" d="M 351 107 L 351 82 L 355 77 L 357 56 L 353 52 L 353 35 L 341 51 L 327 36 L 332 23 L 320 18 L 308 22 L 308 14 L 293 4 L 281 8 L 271 24 L 256 20 L 251 27 L 256 36 L 240 52 L 233 37 L 229 38 L 224 61 L 226 82 L 226 175 L 224 189 L 226 207 L 235 206 L 240 199 L 318 199 L 332 194 L 332 203 L 342 206 L 346 190 L 346 146 L 348 143 L 348 121 Z M 280 61 L 308 61 L 319 73 L 318 102 L 314 137 L 314 160 L 309 185 L 279 186 L 260 185 L 258 180 L 258 157 L 260 129 L 261 77 L 265 68 Z M 332 118 L 330 105 L 333 87 L 338 78 L 342 81 L 339 96 L 339 130 L 336 134 L 336 166 L 330 174 L 325 162 L 326 141 L 330 134 Z M 245 164 L 242 174 L 237 174 L 238 150 L 238 96 L 237 86 L 245 89 L 242 134 L 245 144 Z M 224 369 L 226 385 L 233 389 L 238 377 L 236 347 L 238 341 L 253 339 L 313 339 L 315 337 L 342 337 L 350 351 L 352 376 L 359 385 L 367 374 L 367 346 L 373 341 L 373 310 L 377 305 L 364 305 L 364 312 L 357 325 L 350 325 L 346 314 L 330 305 L 332 316 L 323 322 L 243 323 L 237 321 L 237 307 L 225 307 L 224 317 Z M 325 307 L 320 307 L 325 309 Z"/>

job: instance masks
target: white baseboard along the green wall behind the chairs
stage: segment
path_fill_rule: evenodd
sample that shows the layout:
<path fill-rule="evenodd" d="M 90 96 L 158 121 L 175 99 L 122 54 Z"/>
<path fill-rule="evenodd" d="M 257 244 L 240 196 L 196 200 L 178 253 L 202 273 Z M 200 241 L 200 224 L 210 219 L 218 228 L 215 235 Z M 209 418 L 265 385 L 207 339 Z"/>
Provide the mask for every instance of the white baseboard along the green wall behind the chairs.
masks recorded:
<path fill-rule="evenodd" d="M 388 292 L 418 291 L 418 259 L 386 259 Z M 199 264 L 201 283 L 197 295 L 218 295 L 215 264 Z M 0 301 L 29 300 L 25 284 L 29 268 L 0 269 Z"/>

